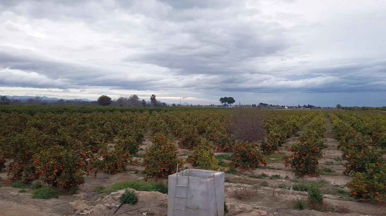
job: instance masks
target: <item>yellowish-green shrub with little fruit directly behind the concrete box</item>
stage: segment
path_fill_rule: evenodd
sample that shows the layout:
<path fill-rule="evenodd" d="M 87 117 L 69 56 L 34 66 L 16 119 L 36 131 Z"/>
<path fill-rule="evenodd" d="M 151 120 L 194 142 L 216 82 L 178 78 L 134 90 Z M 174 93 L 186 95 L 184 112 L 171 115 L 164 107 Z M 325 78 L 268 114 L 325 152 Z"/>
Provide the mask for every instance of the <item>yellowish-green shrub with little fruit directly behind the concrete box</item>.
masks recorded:
<path fill-rule="evenodd" d="M 200 144 L 194 148 L 194 152 L 189 155 L 188 161 L 189 163 L 192 163 L 193 166 L 210 170 L 218 169 L 218 161 L 211 152 L 210 143 L 205 138 L 202 138 Z"/>

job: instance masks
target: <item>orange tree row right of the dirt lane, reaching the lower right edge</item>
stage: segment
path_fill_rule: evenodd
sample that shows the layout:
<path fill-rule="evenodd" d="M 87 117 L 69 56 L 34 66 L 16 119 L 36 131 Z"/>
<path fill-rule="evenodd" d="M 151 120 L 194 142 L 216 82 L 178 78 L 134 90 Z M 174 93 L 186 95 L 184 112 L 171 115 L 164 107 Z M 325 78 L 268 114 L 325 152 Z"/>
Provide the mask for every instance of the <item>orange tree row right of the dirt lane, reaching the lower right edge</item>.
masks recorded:
<path fill-rule="evenodd" d="M 374 139 L 369 134 L 363 134 L 353 128 L 353 122 L 342 121 L 338 117 L 345 115 L 366 115 L 364 113 L 330 113 L 333 133 L 339 141 L 338 148 L 343 151 L 346 170 L 345 175 L 352 175 L 348 182 L 351 195 L 357 199 L 375 199 L 379 204 L 386 202 L 386 166 L 384 165 L 384 150 L 374 145 Z M 345 118 L 347 119 L 347 118 Z M 353 121 L 353 120 L 352 120 Z M 361 121 L 359 118 L 358 121 Z"/>

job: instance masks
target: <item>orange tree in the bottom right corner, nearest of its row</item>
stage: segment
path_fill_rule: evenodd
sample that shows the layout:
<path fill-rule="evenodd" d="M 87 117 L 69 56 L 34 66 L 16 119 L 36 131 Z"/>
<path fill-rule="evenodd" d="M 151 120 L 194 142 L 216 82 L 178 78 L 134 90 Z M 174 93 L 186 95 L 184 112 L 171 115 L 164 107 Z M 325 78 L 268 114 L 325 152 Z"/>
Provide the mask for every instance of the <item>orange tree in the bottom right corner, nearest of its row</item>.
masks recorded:
<path fill-rule="evenodd" d="M 386 165 L 367 165 L 366 171 L 355 173 L 347 185 L 357 199 L 376 199 L 379 204 L 386 204 Z"/>

